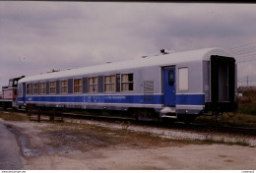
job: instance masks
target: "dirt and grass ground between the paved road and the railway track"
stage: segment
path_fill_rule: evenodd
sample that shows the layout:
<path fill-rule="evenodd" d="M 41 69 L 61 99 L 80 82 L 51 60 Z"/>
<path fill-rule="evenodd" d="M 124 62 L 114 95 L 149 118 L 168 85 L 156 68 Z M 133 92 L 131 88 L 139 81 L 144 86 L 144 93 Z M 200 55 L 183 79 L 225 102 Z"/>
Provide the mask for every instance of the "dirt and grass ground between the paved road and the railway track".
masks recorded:
<path fill-rule="evenodd" d="M 224 142 L 224 136 L 218 142 L 214 137 L 220 134 L 211 132 L 188 133 L 96 120 L 37 123 L 28 117 L 13 121 L 14 116 L 6 112 L 8 121 L 3 123 L 16 135 L 25 160 L 23 169 L 27 170 L 256 169 L 256 147 L 248 146 L 248 139 L 240 136 L 229 137 L 236 139 L 229 143 Z"/>

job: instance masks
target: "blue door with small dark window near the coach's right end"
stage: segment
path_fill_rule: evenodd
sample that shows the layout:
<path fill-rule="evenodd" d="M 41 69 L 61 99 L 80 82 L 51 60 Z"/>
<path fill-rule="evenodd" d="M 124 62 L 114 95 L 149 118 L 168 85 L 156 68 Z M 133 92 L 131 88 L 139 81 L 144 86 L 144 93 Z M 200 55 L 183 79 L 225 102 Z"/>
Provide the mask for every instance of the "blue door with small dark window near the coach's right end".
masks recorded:
<path fill-rule="evenodd" d="M 163 68 L 163 104 L 175 106 L 175 68 Z"/>

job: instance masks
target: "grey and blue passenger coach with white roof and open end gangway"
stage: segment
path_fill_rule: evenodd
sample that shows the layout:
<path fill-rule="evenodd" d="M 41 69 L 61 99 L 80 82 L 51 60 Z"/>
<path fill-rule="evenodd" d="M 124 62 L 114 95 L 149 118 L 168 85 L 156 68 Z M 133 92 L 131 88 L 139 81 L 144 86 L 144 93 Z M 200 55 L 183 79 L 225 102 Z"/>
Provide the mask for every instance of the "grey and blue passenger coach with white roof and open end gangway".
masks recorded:
<path fill-rule="evenodd" d="M 208 48 L 26 77 L 18 104 L 177 118 L 234 111 L 235 95 L 234 58 Z"/>

